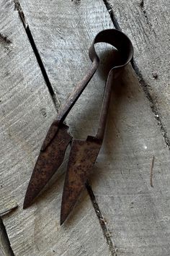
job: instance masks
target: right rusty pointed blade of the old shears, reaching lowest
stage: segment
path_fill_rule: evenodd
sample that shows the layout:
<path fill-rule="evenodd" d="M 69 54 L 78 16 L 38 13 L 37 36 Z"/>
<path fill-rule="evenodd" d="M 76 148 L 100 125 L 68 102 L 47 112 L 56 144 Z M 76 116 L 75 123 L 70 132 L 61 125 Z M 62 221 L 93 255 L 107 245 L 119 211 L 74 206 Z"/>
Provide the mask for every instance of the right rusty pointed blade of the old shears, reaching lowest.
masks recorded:
<path fill-rule="evenodd" d="M 82 189 L 84 189 L 84 184 L 91 173 L 100 148 L 101 144 L 94 137 L 89 136 L 85 141 L 73 140 L 63 187 L 61 225 L 71 213 Z"/>

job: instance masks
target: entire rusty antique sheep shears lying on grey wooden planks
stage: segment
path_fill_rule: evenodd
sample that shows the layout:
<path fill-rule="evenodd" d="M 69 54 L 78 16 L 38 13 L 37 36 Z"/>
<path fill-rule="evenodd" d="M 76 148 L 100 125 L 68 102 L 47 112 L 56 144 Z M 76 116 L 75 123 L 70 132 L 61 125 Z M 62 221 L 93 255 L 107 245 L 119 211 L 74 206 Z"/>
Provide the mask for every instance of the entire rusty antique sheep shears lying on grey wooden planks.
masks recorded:
<path fill-rule="evenodd" d="M 109 43 L 117 48 L 119 52 L 119 65 L 112 67 L 107 77 L 97 135 L 87 136 L 86 140 L 74 140 L 68 132 L 69 127 L 64 124 L 63 121 L 66 119 L 69 111 L 99 67 L 99 57 L 94 48 L 95 43 Z M 59 166 L 61 166 L 66 148 L 71 142 L 71 152 L 68 158 L 68 168 L 63 187 L 61 224 L 66 220 L 76 204 L 97 159 L 104 138 L 113 78 L 117 76 L 133 58 L 133 45 L 130 39 L 119 30 L 103 30 L 94 38 L 89 48 L 89 57 L 92 61 L 91 69 L 84 76 L 83 80 L 79 82 L 76 89 L 73 90 L 73 93 L 68 98 L 63 108 L 61 108 L 61 111 L 59 111 L 57 119 L 51 124 L 45 141 L 42 144 L 40 155 L 37 158 L 24 198 L 23 208 L 27 208 L 58 170 Z"/>

